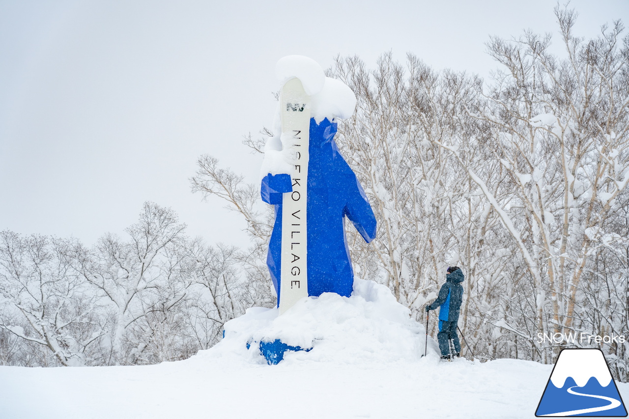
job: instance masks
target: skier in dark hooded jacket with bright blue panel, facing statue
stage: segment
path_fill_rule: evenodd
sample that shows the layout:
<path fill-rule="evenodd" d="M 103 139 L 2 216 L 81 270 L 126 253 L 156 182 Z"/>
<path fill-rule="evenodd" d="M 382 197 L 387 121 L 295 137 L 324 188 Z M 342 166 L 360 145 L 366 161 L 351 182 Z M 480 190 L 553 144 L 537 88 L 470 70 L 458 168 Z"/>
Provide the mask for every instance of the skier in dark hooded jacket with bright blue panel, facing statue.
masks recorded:
<path fill-rule="evenodd" d="M 448 267 L 446 282 L 439 290 L 439 296 L 432 304 L 426 306 L 426 312 L 440 307 L 437 340 L 439 349 L 441 349 L 441 359 L 448 359 L 450 355 L 460 356 L 461 344 L 457 335 L 457 323 L 459 322 L 459 311 L 463 299 L 463 287 L 460 283 L 464 279 L 463 272 L 458 266 Z M 450 339 L 454 343 L 454 354 L 450 350 Z"/>

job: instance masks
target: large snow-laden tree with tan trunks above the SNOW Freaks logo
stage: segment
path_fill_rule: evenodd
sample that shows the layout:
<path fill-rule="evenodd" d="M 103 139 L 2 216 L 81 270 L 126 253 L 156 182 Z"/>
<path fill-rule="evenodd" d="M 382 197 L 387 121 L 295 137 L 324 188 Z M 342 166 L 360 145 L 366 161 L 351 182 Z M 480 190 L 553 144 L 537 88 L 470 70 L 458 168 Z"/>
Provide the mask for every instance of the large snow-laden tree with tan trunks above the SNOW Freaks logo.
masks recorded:
<path fill-rule="evenodd" d="M 516 246 L 528 282 L 519 293 L 535 315 L 507 310 L 491 317 L 530 342 L 537 332 L 599 334 L 601 326 L 586 320 L 584 298 L 593 297 L 586 289 L 601 279 L 594 268 L 601 252 L 623 242 L 610 221 L 622 211 L 618 198 L 629 182 L 629 62 L 626 38 L 618 45 L 622 25 L 616 22 L 585 42 L 572 33 L 574 11 L 558 7 L 555 13 L 567 58 L 548 52 L 550 36 L 493 38 L 489 52 L 506 70 L 496 72 L 489 92 L 479 89 L 477 107 L 466 108 L 489 127 L 488 160 L 499 162 L 507 177 L 484 175 L 485 161 L 443 144 Z M 533 359 L 552 360 L 538 345 L 535 352 Z"/>

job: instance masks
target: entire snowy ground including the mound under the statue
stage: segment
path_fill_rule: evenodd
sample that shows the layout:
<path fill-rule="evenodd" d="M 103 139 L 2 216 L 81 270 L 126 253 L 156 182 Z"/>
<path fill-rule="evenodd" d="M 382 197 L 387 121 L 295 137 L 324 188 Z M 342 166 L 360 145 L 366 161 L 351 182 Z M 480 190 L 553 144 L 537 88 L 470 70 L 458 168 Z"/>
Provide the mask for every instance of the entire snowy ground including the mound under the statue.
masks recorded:
<path fill-rule="evenodd" d="M 191 359 L 156 366 L 0 367 L 0 419 L 534 418 L 552 366 L 440 362 L 388 289 L 254 309 Z M 256 338 L 313 342 L 269 366 Z M 245 343 L 254 339 L 251 349 Z M 629 384 L 617 383 L 629 400 Z"/>

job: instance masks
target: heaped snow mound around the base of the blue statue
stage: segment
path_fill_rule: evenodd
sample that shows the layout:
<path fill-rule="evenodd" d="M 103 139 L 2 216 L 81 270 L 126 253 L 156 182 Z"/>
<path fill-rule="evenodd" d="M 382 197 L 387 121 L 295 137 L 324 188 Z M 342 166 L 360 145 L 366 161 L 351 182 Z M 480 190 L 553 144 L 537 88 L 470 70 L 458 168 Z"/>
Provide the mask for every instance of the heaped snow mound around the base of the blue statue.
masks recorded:
<path fill-rule="evenodd" d="M 312 348 L 309 352 L 286 352 L 284 365 L 420 359 L 426 331 L 411 320 L 408 308 L 376 282 L 355 279 L 353 287 L 349 298 L 335 293 L 302 298 L 281 316 L 277 308 L 250 308 L 225 324 L 225 337 L 204 351 L 204 356 L 238 356 L 245 362 L 265 364 L 259 343 L 279 339 L 290 346 Z M 428 344 L 430 352 L 437 350 L 433 340 Z"/>

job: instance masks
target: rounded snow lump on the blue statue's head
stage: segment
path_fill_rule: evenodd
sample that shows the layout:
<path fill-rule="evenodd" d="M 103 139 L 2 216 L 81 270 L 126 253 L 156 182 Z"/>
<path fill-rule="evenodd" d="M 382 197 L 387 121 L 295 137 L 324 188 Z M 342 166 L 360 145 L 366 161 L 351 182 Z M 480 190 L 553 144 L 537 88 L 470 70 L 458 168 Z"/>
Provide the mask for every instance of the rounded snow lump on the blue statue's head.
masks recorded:
<path fill-rule="evenodd" d="M 311 115 L 316 123 L 328 118 L 351 118 L 356 108 L 356 95 L 347 84 L 337 79 L 325 78 L 323 89 L 312 97 Z"/>

